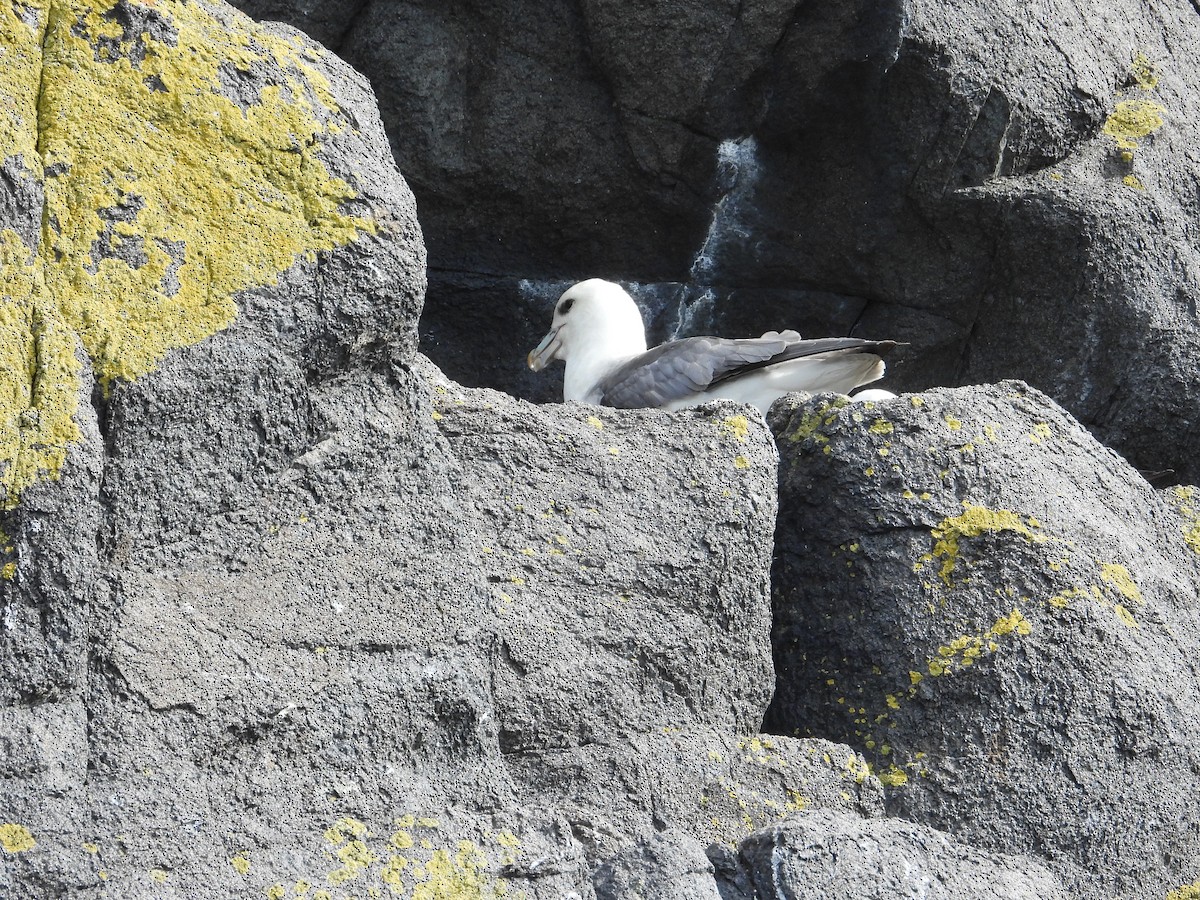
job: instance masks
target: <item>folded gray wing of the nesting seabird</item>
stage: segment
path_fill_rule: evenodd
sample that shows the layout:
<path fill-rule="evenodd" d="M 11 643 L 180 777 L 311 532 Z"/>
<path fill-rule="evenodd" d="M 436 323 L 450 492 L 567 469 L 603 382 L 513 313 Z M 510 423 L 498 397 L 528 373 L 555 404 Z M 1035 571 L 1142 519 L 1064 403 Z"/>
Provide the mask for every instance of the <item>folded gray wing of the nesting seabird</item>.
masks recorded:
<path fill-rule="evenodd" d="M 785 331 L 742 340 L 689 337 L 660 344 L 604 378 L 598 385 L 600 403 L 622 409 L 660 407 L 775 362 L 833 352 L 882 356 L 895 346 L 858 337 L 798 338 L 794 331 Z"/>

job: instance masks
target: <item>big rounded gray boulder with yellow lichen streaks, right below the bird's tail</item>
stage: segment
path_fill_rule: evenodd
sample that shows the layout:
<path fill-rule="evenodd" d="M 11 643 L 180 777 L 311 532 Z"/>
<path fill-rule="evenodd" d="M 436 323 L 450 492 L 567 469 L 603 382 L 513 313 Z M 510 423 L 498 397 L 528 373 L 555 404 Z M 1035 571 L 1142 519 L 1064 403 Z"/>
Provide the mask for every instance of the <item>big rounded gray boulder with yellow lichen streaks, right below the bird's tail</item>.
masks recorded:
<path fill-rule="evenodd" d="M 772 727 L 868 749 L 890 811 L 1036 853 L 1073 895 L 1194 880 L 1183 493 L 1015 382 L 788 402 L 773 422 Z"/>

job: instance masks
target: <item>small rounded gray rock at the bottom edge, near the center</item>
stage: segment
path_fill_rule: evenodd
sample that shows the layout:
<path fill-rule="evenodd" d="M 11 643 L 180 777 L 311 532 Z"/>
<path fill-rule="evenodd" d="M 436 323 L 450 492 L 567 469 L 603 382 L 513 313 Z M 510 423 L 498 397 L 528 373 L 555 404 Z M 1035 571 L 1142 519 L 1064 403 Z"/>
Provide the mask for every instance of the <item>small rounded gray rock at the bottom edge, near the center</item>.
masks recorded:
<path fill-rule="evenodd" d="M 596 900 L 721 900 L 700 841 L 666 832 L 607 859 L 592 881 Z"/>

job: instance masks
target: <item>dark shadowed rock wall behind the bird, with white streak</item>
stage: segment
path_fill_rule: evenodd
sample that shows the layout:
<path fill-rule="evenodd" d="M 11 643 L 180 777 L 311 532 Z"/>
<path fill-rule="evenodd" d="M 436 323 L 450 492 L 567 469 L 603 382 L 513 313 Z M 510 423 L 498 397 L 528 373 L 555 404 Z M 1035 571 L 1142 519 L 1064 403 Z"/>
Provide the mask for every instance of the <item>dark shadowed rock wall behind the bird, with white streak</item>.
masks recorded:
<path fill-rule="evenodd" d="M 451 377 L 557 397 L 516 350 L 604 276 L 658 340 L 906 341 L 900 389 L 1021 378 L 1200 478 L 1188 5 L 368 2 L 338 35 L 420 203 Z"/>

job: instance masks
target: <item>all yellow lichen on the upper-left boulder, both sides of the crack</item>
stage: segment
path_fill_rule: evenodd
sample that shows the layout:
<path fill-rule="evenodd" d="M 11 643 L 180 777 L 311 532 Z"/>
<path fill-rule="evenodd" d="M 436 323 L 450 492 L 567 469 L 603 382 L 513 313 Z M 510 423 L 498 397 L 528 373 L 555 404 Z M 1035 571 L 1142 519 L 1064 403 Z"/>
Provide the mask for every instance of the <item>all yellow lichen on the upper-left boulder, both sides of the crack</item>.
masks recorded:
<path fill-rule="evenodd" d="M 0 0 L 0 157 L 46 173 L 36 256 L 0 232 L 10 506 L 78 439 L 77 341 L 106 389 L 134 379 L 226 328 L 238 292 L 374 230 L 318 156 L 341 126 L 314 52 L 232 17 Z M 254 72 L 257 96 L 230 96 Z"/>

